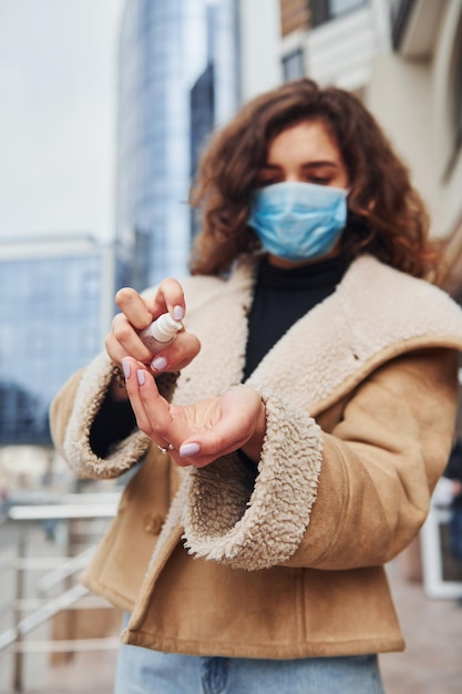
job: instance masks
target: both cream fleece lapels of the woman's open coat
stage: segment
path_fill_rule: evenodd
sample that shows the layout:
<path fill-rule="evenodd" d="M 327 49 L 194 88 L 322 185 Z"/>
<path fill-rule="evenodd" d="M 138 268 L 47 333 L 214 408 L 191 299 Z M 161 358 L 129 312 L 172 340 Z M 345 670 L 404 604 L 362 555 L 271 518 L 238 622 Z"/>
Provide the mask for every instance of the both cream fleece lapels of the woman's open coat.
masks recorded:
<path fill-rule="evenodd" d="M 185 325 L 202 350 L 179 375 L 175 402 L 215 397 L 242 381 L 254 282 L 254 266 L 244 264 L 227 282 L 184 283 L 192 306 Z M 444 292 L 361 256 L 333 294 L 268 351 L 247 384 L 276 390 L 315 415 L 393 356 L 421 346 L 459 349 L 461 338 L 462 312 Z"/>

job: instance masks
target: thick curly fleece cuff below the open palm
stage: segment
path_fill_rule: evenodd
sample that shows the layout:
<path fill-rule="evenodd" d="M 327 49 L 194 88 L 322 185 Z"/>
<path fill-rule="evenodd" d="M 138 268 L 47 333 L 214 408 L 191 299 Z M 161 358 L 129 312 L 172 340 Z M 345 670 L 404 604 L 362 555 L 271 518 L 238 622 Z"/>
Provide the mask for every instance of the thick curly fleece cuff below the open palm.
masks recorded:
<path fill-rule="evenodd" d="M 295 553 L 309 523 L 322 461 L 316 421 L 253 387 L 267 417 L 256 479 L 238 453 L 192 468 L 183 512 L 192 554 L 247 570 L 284 563 Z"/>

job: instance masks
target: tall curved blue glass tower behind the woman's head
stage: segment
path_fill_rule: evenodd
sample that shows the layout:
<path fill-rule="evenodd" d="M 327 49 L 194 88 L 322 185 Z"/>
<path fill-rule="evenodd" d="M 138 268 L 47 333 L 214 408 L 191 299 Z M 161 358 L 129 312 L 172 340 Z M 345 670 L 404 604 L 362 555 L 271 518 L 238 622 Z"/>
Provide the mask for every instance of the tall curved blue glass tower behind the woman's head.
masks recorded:
<path fill-rule="evenodd" d="M 134 286 L 183 276 L 188 190 L 238 103 L 237 0 L 129 0 L 119 67 L 116 234 Z"/>

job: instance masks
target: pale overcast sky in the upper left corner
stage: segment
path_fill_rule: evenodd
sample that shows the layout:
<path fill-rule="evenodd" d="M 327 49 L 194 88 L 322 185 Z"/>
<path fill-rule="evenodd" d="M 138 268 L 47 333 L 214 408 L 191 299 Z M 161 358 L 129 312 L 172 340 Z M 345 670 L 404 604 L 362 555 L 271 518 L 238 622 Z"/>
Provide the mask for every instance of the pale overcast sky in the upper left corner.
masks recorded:
<path fill-rule="evenodd" d="M 0 241 L 111 239 L 125 0 L 0 0 Z"/>

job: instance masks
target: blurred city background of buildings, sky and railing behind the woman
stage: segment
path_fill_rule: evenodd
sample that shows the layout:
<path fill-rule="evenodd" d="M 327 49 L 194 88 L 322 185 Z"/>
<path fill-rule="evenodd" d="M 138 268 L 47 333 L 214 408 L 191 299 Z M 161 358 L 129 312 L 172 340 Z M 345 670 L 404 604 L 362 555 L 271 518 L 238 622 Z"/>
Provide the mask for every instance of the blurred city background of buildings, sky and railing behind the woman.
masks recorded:
<path fill-rule="evenodd" d="M 1 693 L 111 691 L 120 615 L 78 575 L 126 480 L 78 484 L 48 408 L 102 349 L 120 286 L 187 273 L 211 134 L 301 76 L 382 124 L 462 305 L 462 0 L 0 0 Z M 397 694 L 462 687 L 449 513 L 440 497 L 390 568 L 417 640 L 383 661 Z"/>

